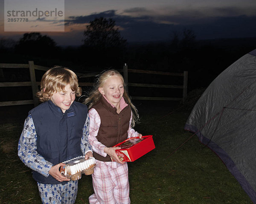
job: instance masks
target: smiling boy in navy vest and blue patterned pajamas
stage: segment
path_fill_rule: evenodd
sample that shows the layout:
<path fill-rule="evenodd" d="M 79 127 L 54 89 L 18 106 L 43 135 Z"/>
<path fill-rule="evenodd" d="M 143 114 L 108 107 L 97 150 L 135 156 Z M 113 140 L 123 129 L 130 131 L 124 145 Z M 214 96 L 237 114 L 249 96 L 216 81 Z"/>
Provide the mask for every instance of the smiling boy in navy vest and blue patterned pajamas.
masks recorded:
<path fill-rule="evenodd" d="M 24 123 L 18 155 L 32 169 L 42 203 L 74 203 L 78 181 L 61 175 L 61 162 L 93 156 L 87 106 L 75 101 L 80 95 L 76 74 L 55 66 L 44 74 L 37 93 L 44 103 L 32 109 Z"/>

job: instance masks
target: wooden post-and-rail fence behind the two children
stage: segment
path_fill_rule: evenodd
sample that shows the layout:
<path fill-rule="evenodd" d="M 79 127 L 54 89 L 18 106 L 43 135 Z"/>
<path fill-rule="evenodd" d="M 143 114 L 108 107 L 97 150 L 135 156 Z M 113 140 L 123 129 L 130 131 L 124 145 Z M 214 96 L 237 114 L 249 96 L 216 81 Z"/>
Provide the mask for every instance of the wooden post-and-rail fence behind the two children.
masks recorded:
<path fill-rule="evenodd" d="M 35 78 L 35 70 L 47 71 L 49 67 L 35 65 L 34 61 L 29 61 L 28 64 L 8 64 L 8 63 L 0 63 L 0 69 L 3 68 L 24 68 L 29 69 L 30 81 L 28 82 L 0 82 L 1 87 L 10 87 L 10 86 L 32 86 L 32 96 L 33 100 L 23 100 L 23 101 L 4 101 L 0 102 L 0 106 L 12 106 L 12 105 L 25 105 L 25 104 L 34 104 L 34 106 L 38 105 L 38 98 L 36 97 L 36 93 L 38 92 L 38 86 L 40 86 L 40 82 L 36 81 Z M 187 95 L 187 80 L 188 80 L 188 72 L 184 71 L 183 73 L 171 73 L 171 72 L 157 72 L 157 71 L 149 71 L 149 70 L 139 70 L 139 69 L 128 69 L 127 64 L 123 66 L 123 69 L 119 69 L 119 72 L 123 73 L 123 77 L 125 80 L 125 84 L 128 86 L 136 86 L 136 87 L 154 87 L 154 88 L 172 88 L 172 89 L 182 89 L 183 97 L 182 98 L 166 98 L 166 97 L 145 97 L 145 96 L 132 96 L 132 100 L 170 100 L 170 101 L 182 101 L 186 99 Z M 183 85 L 160 85 L 160 84 L 145 84 L 145 83 L 129 83 L 128 82 L 128 72 L 133 73 L 143 73 L 143 74 L 154 74 L 154 75 L 169 75 L 169 76 L 180 76 L 183 77 Z M 79 78 L 87 78 L 87 77 L 95 77 L 99 72 L 92 73 L 80 73 L 76 72 L 76 75 Z M 79 82 L 79 86 L 93 86 L 93 83 L 90 82 Z M 128 91 L 128 86 L 125 86 L 125 89 Z"/>

